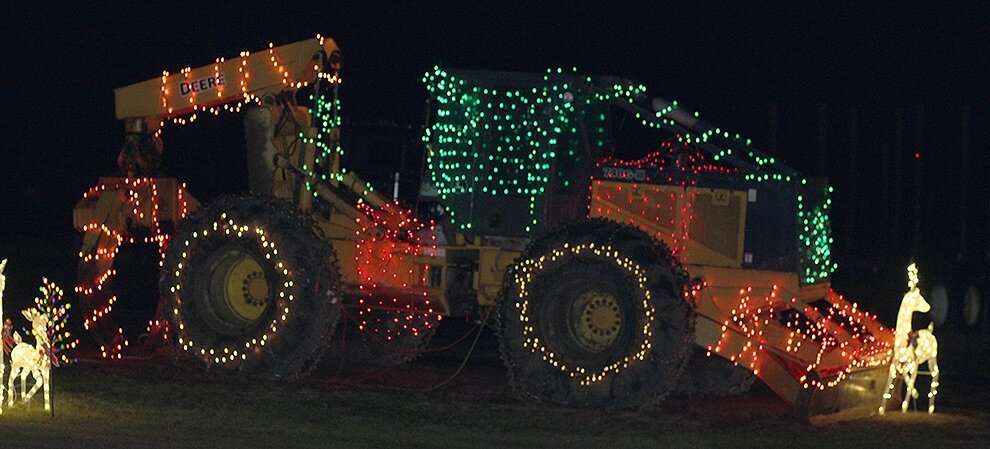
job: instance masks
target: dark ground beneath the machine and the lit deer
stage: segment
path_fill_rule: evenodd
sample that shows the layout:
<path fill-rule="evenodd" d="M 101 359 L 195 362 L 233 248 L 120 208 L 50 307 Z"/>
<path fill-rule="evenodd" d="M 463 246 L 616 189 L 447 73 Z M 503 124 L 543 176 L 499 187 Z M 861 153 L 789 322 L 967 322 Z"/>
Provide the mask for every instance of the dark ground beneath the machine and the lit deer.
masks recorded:
<path fill-rule="evenodd" d="M 401 367 L 327 361 L 274 382 L 169 357 L 87 362 L 54 374 L 55 416 L 40 395 L 0 415 L 0 447 L 985 447 L 985 377 L 946 367 L 938 410 L 813 427 L 757 384 L 742 396 L 672 397 L 650 411 L 577 410 L 520 400 L 486 335 Z M 950 364 L 951 365 L 951 364 Z M 441 385 L 443 384 L 443 385 Z M 923 404 L 919 404 L 921 408 Z"/>

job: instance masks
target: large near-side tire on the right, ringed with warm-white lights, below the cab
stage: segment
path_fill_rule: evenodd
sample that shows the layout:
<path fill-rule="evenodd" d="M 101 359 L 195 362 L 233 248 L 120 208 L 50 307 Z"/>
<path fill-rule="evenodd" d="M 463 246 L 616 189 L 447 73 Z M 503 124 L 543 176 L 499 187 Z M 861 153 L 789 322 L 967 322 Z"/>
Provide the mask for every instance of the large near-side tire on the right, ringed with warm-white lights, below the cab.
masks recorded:
<path fill-rule="evenodd" d="M 694 346 L 687 282 L 667 247 L 631 226 L 583 220 L 535 239 L 498 305 L 513 385 L 572 406 L 663 399 Z"/>

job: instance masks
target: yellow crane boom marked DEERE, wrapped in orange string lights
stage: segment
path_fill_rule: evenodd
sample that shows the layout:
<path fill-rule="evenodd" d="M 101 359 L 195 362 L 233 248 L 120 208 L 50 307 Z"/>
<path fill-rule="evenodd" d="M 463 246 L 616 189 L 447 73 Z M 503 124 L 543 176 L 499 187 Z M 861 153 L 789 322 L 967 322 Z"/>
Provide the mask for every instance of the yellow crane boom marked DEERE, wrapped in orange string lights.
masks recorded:
<path fill-rule="evenodd" d="M 115 89 L 116 115 L 156 127 L 179 115 L 303 87 L 319 77 L 332 79 L 339 68 L 340 52 L 333 39 L 317 36 L 278 47 L 269 44 L 266 50 L 217 58 L 213 64 L 178 73 L 165 71 Z"/>

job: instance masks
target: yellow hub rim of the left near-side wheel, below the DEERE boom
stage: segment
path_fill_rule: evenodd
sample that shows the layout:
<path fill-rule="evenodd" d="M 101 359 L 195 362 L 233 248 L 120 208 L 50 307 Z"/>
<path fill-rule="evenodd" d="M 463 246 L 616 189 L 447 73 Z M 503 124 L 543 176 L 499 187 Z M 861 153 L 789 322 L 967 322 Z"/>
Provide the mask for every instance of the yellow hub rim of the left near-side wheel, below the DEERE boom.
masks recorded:
<path fill-rule="evenodd" d="M 224 300 L 239 318 L 255 321 L 268 306 L 271 289 L 265 271 L 250 256 L 242 256 L 231 264 L 224 276 Z"/>

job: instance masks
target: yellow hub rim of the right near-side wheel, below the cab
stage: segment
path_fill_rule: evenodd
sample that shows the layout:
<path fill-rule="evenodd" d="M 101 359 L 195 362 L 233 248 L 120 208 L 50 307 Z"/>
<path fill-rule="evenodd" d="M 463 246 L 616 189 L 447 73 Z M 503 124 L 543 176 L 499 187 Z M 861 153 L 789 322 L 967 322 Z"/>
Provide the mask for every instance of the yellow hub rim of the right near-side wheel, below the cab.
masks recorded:
<path fill-rule="evenodd" d="M 622 330 L 618 298 L 594 290 L 580 294 L 571 309 L 571 329 L 577 342 L 586 349 L 607 350 Z"/>

